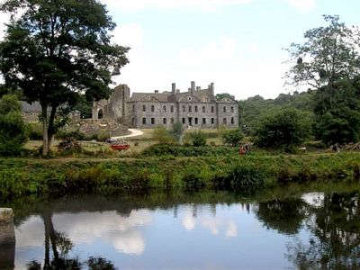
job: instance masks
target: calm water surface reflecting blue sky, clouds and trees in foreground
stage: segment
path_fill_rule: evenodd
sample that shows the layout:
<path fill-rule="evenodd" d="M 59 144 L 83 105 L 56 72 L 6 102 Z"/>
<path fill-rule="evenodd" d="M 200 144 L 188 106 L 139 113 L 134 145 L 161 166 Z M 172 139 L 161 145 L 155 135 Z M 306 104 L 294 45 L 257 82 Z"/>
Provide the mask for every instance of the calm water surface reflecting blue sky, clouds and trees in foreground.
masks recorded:
<path fill-rule="evenodd" d="M 360 267 L 358 192 L 120 197 L 2 203 L 16 216 L 0 268 Z"/>

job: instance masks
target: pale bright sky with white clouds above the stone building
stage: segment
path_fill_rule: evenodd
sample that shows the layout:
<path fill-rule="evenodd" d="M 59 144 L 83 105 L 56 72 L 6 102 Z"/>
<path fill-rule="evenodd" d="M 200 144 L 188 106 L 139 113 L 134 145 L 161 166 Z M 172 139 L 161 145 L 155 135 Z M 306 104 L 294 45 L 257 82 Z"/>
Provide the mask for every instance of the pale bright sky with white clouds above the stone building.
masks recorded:
<path fill-rule="evenodd" d="M 299 90 L 284 84 L 290 67 L 284 49 L 322 25 L 322 14 L 356 25 L 360 10 L 358 0 L 100 1 L 118 25 L 113 41 L 131 48 L 117 84 L 153 92 L 213 82 L 216 94 L 237 99 Z"/>

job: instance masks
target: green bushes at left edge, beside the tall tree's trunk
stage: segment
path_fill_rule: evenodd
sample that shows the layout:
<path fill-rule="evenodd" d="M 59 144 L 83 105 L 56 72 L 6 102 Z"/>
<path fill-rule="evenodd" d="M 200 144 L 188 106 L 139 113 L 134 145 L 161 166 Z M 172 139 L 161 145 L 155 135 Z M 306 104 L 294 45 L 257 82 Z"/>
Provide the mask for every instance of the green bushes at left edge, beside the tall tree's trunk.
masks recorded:
<path fill-rule="evenodd" d="M 27 140 L 26 125 L 15 95 L 4 95 L 0 101 L 0 155 L 20 154 Z"/>

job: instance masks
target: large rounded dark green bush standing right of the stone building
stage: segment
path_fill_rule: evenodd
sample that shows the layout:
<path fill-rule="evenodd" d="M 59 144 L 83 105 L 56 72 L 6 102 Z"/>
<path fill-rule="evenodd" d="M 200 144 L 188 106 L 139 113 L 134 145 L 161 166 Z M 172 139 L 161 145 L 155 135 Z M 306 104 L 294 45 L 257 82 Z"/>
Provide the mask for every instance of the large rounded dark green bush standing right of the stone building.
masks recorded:
<path fill-rule="evenodd" d="M 257 146 L 262 148 L 285 148 L 299 146 L 310 136 L 309 115 L 287 108 L 266 116 L 257 130 Z"/>

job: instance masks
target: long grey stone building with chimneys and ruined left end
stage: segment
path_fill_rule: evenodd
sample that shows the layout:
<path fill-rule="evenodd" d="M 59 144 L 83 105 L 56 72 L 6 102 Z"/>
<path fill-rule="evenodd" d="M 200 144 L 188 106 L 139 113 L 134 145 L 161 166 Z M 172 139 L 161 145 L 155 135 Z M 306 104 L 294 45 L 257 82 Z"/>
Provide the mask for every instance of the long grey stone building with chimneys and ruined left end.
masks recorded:
<path fill-rule="evenodd" d="M 171 91 L 130 96 L 130 88 L 119 85 L 109 100 L 94 103 L 93 119 L 119 120 L 140 129 L 170 128 L 176 121 L 187 128 L 238 127 L 238 103 L 229 98 L 218 100 L 214 91 L 213 83 L 202 89 L 192 82 L 187 92 L 180 92 L 173 84 Z"/>

